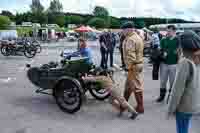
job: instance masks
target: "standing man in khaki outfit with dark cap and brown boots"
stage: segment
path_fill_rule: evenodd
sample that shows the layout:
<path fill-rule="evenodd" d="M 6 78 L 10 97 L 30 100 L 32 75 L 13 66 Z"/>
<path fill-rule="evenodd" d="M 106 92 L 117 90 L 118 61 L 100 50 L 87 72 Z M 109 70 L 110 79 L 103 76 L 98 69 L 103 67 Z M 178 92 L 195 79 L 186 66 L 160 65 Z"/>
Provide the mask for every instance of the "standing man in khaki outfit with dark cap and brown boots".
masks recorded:
<path fill-rule="evenodd" d="M 138 35 L 131 22 L 122 26 L 126 38 L 123 42 L 123 57 L 128 70 L 124 97 L 128 101 L 132 92 L 135 94 L 138 113 L 144 113 L 143 106 L 143 39 Z M 122 108 L 123 111 L 123 108 Z"/>

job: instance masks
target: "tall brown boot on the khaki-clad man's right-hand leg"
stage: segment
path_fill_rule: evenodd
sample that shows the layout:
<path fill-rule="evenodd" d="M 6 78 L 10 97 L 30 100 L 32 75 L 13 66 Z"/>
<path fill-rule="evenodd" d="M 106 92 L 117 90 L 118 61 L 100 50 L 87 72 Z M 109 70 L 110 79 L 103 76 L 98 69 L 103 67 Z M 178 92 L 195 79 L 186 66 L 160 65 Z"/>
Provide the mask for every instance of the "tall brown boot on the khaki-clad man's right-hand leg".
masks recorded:
<path fill-rule="evenodd" d="M 139 114 L 143 114 L 144 113 L 143 92 L 136 92 L 135 99 L 137 102 L 137 107 L 135 108 L 135 110 Z"/>

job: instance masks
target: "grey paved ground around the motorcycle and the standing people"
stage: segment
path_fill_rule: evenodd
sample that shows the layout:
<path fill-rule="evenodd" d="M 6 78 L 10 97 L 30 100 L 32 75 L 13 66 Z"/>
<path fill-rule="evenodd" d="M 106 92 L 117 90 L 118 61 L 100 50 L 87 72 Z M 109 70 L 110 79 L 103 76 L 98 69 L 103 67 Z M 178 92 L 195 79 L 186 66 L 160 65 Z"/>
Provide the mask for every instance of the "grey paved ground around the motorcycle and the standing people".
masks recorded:
<path fill-rule="evenodd" d="M 96 42 L 90 42 L 96 64 L 99 51 Z M 52 43 L 43 46 L 34 59 L 3 57 L 0 55 L 0 133 L 176 133 L 175 120 L 166 119 L 166 104 L 156 104 L 159 82 L 151 80 L 151 67 L 145 64 L 145 114 L 132 121 L 125 114 L 116 117 L 116 111 L 105 101 L 88 95 L 86 103 L 74 115 L 60 111 L 52 97 L 35 94 L 35 86 L 26 78 L 26 63 L 38 66 L 58 61 L 61 50 L 75 50 L 75 43 Z M 118 51 L 115 63 L 120 64 Z M 125 77 L 116 73 L 116 82 L 123 91 Z M 134 105 L 134 97 L 130 100 Z M 200 118 L 192 120 L 191 133 L 200 133 Z"/>

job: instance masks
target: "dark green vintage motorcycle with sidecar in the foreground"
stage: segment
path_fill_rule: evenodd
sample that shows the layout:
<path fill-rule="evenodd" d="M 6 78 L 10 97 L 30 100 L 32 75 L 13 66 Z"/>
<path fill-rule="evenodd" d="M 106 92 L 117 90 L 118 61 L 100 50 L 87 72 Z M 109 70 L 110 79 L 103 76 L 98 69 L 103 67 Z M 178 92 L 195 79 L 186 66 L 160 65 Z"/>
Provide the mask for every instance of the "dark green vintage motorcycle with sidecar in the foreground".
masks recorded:
<path fill-rule="evenodd" d="M 27 76 L 35 86 L 39 87 L 36 93 L 52 95 L 62 111 L 75 113 L 80 110 L 87 91 L 97 100 L 104 100 L 110 96 L 100 84 L 83 82 L 82 76 L 95 75 L 99 69 L 93 64 L 88 64 L 87 60 L 87 58 L 70 57 L 60 63 L 50 62 L 40 67 L 27 65 L 29 67 Z M 51 93 L 47 92 L 48 90 L 52 90 Z"/>

